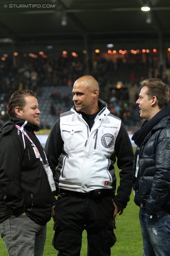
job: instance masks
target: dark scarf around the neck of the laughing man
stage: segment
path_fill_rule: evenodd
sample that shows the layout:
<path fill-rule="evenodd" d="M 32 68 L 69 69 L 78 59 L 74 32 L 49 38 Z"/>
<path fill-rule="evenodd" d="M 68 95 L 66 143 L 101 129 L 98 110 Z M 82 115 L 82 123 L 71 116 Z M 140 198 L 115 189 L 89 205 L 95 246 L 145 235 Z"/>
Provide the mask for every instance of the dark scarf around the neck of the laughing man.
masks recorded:
<path fill-rule="evenodd" d="M 154 128 L 156 124 L 160 122 L 164 117 L 170 116 L 170 104 L 162 108 L 155 116 L 153 116 L 149 121 L 145 120 L 139 130 L 137 130 L 133 136 L 135 144 L 140 148 L 143 140 L 149 134 L 149 132 Z"/>

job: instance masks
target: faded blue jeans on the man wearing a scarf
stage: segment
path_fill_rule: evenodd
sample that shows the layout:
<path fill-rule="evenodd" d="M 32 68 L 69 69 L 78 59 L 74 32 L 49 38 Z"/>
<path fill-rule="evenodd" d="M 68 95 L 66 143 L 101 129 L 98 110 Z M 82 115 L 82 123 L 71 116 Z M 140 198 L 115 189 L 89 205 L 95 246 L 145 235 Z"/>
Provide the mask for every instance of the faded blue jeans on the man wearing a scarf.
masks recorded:
<path fill-rule="evenodd" d="M 170 256 L 170 216 L 160 216 L 150 219 L 143 208 L 139 211 L 139 220 L 143 236 L 144 256 Z"/>

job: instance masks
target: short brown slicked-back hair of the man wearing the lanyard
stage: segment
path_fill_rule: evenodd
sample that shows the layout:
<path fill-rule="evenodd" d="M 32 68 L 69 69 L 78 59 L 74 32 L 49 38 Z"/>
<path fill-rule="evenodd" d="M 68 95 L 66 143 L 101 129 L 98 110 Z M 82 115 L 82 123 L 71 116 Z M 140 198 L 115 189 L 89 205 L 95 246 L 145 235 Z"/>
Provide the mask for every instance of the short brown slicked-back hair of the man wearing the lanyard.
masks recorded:
<path fill-rule="evenodd" d="M 32 90 L 25 89 L 25 90 L 17 90 L 15 91 L 9 101 L 8 105 L 8 114 L 11 117 L 16 116 L 15 108 L 19 107 L 21 110 L 25 107 L 26 101 L 25 97 L 27 96 L 33 96 L 35 97 L 36 94 Z"/>

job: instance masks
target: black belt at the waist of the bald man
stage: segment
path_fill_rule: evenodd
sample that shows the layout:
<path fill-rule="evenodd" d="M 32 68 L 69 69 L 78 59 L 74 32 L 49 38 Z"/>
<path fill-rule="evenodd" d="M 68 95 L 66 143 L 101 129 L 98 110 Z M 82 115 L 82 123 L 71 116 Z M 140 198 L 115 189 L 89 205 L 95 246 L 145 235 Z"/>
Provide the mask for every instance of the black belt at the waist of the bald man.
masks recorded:
<path fill-rule="evenodd" d="M 87 193 L 82 193 L 82 192 L 60 188 L 59 194 L 62 194 L 62 193 L 84 198 L 84 197 L 94 197 L 94 196 L 101 196 L 101 195 L 111 195 L 112 192 L 109 189 L 96 189 Z"/>

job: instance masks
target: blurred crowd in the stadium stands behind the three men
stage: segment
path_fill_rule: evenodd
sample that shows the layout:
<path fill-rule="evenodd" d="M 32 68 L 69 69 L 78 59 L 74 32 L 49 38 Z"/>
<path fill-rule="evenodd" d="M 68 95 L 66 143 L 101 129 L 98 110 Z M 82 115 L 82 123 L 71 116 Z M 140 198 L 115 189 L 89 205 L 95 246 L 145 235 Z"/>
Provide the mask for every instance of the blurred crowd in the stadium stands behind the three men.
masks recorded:
<path fill-rule="evenodd" d="M 86 74 L 86 64 L 83 57 L 74 58 L 57 56 L 53 58 L 20 57 L 18 65 L 12 60 L 6 60 L 0 64 L 0 110 L 5 111 L 0 115 L 0 126 L 8 120 L 8 101 L 15 90 L 31 89 L 42 96 L 43 87 L 53 87 L 49 99 L 50 114 L 59 117 L 61 112 L 72 107 L 72 97 L 66 93 L 61 96 L 57 88 L 72 87 L 74 82 Z M 150 72 L 149 61 L 143 62 L 137 59 L 132 61 L 118 58 L 114 63 L 100 55 L 93 56 L 89 61 L 89 75 L 94 76 L 100 85 L 101 100 L 104 100 L 110 112 L 121 118 L 127 130 L 137 130 L 143 120 L 139 117 L 139 109 L 136 100 L 139 95 L 139 81 L 146 78 L 157 77 L 158 73 Z M 152 76 L 152 77 L 149 77 Z M 167 76 L 162 79 L 168 83 Z M 121 81 L 121 88 L 117 88 Z M 63 102 L 64 107 L 59 108 Z M 46 127 L 41 123 L 41 128 Z"/>

